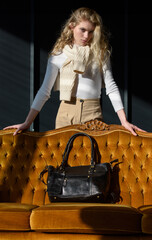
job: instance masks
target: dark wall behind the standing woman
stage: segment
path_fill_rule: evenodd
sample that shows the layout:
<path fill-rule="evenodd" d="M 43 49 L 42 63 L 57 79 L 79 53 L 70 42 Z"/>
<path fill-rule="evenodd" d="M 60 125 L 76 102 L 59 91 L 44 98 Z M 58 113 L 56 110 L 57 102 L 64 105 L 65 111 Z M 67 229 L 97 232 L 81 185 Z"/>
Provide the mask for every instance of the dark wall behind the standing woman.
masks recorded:
<path fill-rule="evenodd" d="M 152 132 L 151 13 L 149 1 L 52 2 L 1 0 L 0 3 L 0 129 L 23 122 L 41 85 L 48 52 L 71 11 L 95 9 L 110 32 L 112 69 L 128 120 Z M 120 124 L 103 90 L 104 121 Z M 54 128 L 58 93 L 36 118 L 32 128 Z M 32 129 L 31 128 L 31 129 Z"/>

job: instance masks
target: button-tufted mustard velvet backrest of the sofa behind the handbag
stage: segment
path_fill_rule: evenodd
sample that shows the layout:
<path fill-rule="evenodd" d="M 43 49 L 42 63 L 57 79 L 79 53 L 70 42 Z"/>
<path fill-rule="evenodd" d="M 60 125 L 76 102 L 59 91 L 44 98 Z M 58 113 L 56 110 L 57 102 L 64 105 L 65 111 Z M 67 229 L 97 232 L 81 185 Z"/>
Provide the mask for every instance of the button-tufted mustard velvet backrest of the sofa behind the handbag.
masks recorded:
<path fill-rule="evenodd" d="M 76 132 L 66 127 L 44 133 L 0 131 L 0 201 L 43 205 L 49 203 L 46 186 L 39 180 L 46 165 L 58 166 L 68 139 Z M 138 207 L 152 204 L 152 133 L 134 137 L 119 126 L 84 130 L 98 146 L 101 162 L 118 158 L 120 204 Z M 90 164 L 91 146 L 86 137 L 75 139 L 69 164 Z"/>

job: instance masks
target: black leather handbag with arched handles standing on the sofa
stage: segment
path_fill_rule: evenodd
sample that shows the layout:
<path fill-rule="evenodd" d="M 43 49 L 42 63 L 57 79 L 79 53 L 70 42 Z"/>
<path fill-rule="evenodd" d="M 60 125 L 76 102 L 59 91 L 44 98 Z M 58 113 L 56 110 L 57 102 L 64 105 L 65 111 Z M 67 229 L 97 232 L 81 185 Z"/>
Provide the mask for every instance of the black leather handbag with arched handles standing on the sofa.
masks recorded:
<path fill-rule="evenodd" d="M 73 141 L 78 136 L 87 136 L 91 142 L 91 162 L 87 166 L 68 166 L 68 156 Z M 48 172 L 47 191 L 51 202 L 107 202 L 110 194 L 112 163 L 95 163 L 92 138 L 86 133 L 76 133 L 68 141 L 63 161 L 58 168 L 49 165 L 40 173 L 40 180 Z"/>

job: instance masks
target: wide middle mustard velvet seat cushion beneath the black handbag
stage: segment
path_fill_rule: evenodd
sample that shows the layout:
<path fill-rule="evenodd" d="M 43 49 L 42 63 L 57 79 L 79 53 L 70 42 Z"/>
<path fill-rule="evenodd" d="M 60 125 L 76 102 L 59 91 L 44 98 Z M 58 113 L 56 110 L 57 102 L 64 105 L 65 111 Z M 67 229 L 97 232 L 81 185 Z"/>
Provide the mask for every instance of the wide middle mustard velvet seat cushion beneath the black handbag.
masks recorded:
<path fill-rule="evenodd" d="M 118 204 L 52 203 L 32 211 L 31 229 L 41 232 L 141 233 L 135 208 Z"/>

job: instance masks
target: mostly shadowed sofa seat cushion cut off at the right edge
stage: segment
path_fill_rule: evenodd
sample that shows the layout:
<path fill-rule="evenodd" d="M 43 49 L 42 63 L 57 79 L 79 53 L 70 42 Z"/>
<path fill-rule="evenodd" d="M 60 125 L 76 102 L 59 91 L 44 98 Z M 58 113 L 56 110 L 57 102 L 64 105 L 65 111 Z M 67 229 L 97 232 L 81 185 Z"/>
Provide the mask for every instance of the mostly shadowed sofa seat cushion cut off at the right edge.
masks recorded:
<path fill-rule="evenodd" d="M 152 205 L 145 205 L 138 208 L 143 214 L 141 227 L 143 233 L 152 234 Z"/>

